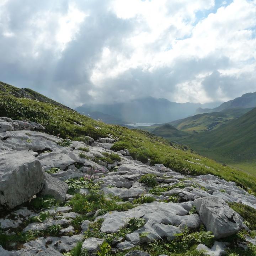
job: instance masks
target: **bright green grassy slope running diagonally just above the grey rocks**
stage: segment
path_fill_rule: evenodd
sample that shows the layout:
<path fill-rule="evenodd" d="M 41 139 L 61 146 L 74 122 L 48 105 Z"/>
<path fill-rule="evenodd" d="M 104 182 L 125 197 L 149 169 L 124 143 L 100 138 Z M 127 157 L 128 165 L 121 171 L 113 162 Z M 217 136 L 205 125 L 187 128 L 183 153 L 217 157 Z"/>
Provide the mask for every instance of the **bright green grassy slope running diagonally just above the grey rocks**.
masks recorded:
<path fill-rule="evenodd" d="M 184 148 L 171 145 L 168 141 L 148 132 L 108 125 L 52 103 L 16 98 L 12 95 L 0 95 L 0 116 L 39 122 L 46 127 L 49 134 L 60 133 L 62 138 L 83 140 L 82 136 L 89 135 L 97 139 L 110 133 L 119 138 L 119 141 L 114 144 L 115 150 L 127 148 L 131 155 L 138 160 L 146 162 L 150 158 L 151 164 L 164 164 L 185 174 L 188 171 L 192 175 L 214 174 L 226 180 L 235 181 L 240 186 L 251 187 L 256 191 L 256 177 L 252 175 L 222 166 L 190 150 L 184 151 Z M 98 126 L 100 129 L 96 129 L 94 126 Z"/>

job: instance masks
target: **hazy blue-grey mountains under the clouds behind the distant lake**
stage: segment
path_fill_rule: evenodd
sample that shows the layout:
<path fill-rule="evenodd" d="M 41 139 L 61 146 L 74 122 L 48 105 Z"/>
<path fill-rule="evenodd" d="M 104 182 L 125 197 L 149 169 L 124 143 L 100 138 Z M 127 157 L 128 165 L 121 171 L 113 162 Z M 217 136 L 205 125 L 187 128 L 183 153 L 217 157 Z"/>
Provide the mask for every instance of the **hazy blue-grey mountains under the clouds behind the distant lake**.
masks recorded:
<path fill-rule="evenodd" d="M 193 115 L 199 107 L 214 107 L 219 103 L 177 103 L 164 98 L 139 98 L 124 103 L 82 105 L 79 113 L 106 123 L 166 123 Z M 95 112 L 97 113 L 95 115 Z"/>

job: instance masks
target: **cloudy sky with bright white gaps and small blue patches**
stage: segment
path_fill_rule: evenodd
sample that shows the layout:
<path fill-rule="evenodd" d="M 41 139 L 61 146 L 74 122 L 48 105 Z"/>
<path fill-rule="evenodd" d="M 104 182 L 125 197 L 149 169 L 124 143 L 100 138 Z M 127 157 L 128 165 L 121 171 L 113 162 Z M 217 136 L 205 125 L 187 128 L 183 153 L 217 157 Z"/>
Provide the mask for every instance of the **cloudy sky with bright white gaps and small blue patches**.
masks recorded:
<path fill-rule="evenodd" d="M 70 107 L 256 91 L 256 0 L 0 0 L 0 81 Z"/>

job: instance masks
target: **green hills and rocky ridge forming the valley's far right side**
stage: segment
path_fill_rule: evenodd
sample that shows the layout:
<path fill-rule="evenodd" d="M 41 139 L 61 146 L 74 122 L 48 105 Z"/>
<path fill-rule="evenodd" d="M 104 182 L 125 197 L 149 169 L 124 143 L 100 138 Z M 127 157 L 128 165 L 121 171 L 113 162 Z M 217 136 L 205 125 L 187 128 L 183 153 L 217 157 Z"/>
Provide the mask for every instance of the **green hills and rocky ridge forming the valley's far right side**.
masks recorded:
<path fill-rule="evenodd" d="M 208 113 L 139 128 L 255 173 L 256 92 L 224 102 Z"/>

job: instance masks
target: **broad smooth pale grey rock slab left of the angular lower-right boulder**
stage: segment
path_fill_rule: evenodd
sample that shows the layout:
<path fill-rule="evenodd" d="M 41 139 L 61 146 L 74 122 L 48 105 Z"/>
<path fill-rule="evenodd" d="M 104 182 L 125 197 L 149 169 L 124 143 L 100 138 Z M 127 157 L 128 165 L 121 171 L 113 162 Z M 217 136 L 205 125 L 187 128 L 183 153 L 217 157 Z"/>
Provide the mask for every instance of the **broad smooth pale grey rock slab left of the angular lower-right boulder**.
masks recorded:
<path fill-rule="evenodd" d="M 188 226 L 188 228 L 198 228 L 200 219 L 197 214 L 187 215 L 188 211 L 182 207 L 182 204 L 153 202 L 145 203 L 125 212 L 113 211 L 98 218 L 103 218 L 101 231 L 105 233 L 117 233 L 119 229 L 128 225 L 129 219 L 143 218 L 145 225 L 126 236 L 126 241 L 117 247 L 129 245 L 128 243 L 140 244 L 141 242 L 152 242 L 166 238 L 171 241 L 175 238 L 175 234 L 181 233 L 180 226 Z M 140 239 L 141 233 L 147 233 Z"/>

